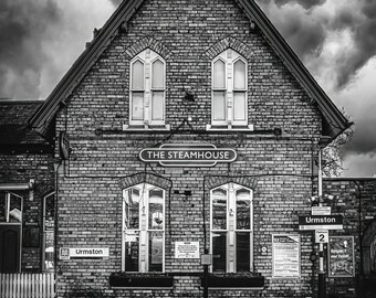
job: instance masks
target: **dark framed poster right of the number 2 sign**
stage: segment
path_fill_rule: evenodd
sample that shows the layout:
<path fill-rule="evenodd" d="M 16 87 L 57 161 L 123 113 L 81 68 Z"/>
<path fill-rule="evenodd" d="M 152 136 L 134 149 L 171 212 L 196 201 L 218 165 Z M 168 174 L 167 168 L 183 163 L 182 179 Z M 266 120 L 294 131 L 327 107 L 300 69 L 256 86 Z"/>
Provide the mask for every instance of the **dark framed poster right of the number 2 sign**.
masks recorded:
<path fill-rule="evenodd" d="M 328 276 L 354 277 L 354 236 L 332 236 L 327 245 Z"/>

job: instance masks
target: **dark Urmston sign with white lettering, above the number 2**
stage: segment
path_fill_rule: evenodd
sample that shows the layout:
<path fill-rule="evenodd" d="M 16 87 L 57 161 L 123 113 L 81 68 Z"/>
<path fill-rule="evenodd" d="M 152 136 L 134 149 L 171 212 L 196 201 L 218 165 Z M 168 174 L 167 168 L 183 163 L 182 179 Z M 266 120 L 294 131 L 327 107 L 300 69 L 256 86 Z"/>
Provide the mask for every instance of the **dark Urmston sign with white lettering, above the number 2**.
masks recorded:
<path fill-rule="evenodd" d="M 299 216 L 299 230 L 343 230 L 342 215 Z"/>

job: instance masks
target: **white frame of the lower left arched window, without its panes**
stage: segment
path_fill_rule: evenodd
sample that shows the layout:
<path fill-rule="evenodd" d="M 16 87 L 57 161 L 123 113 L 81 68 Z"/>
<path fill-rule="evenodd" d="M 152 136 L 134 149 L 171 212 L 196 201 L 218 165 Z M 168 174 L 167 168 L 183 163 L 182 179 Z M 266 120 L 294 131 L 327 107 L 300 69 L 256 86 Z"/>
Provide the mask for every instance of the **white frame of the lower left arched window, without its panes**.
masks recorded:
<path fill-rule="evenodd" d="M 140 203 L 139 203 L 139 210 L 138 210 L 138 228 L 128 228 L 126 225 L 126 219 L 128 216 L 127 214 L 127 192 L 130 189 L 138 189 L 140 191 Z M 157 189 L 163 191 L 163 227 L 161 230 L 154 230 L 149 228 L 149 196 L 148 192 L 149 190 Z M 126 270 L 126 264 L 125 264 L 125 249 L 126 249 L 126 235 L 127 232 L 129 234 L 132 233 L 138 233 L 138 272 L 135 273 L 148 273 L 149 272 L 149 234 L 152 232 L 161 232 L 163 233 L 163 270 L 165 272 L 165 235 L 166 235 L 166 191 L 159 187 L 155 187 L 148 183 L 140 183 L 137 185 L 133 185 L 130 188 L 123 190 L 123 209 L 122 209 L 122 270 Z M 159 273 L 159 272 L 158 272 Z"/>

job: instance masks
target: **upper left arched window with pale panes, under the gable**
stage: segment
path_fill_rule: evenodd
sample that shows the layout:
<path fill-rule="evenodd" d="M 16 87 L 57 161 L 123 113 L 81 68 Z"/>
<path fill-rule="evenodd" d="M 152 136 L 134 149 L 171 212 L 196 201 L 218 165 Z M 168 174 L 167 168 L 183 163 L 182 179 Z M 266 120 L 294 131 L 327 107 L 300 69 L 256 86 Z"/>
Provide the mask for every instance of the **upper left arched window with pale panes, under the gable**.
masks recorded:
<path fill-rule="evenodd" d="M 129 125 L 165 125 L 165 61 L 147 49 L 130 62 Z"/>

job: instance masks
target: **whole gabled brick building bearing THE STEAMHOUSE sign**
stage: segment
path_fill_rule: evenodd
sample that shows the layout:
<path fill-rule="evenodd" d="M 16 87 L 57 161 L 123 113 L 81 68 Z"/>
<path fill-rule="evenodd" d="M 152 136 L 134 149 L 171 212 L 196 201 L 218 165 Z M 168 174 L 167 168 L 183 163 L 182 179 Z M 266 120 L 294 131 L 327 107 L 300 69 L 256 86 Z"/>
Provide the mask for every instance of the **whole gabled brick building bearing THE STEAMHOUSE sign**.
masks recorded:
<path fill-rule="evenodd" d="M 41 238 L 15 258 L 53 270 L 58 297 L 316 297 L 299 216 L 322 140 L 349 124 L 253 1 L 124 1 L 28 124 L 49 150 L 2 152 L 1 193 L 34 179 L 21 226 Z M 336 212 L 358 245 L 374 210 Z M 355 297 L 361 273 L 328 291 Z"/>

